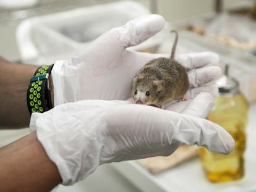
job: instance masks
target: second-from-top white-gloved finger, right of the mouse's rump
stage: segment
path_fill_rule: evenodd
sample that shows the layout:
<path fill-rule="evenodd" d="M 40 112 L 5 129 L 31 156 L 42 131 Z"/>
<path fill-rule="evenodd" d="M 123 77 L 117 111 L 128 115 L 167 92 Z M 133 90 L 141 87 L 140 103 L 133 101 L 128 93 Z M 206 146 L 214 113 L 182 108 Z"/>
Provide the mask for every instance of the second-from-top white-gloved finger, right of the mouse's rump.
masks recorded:
<path fill-rule="evenodd" d="M 187 72 L 190 88 L 205 85 L 210 81 L 220 77 L 221 69 L 218 66 L 201 67 Z"/>

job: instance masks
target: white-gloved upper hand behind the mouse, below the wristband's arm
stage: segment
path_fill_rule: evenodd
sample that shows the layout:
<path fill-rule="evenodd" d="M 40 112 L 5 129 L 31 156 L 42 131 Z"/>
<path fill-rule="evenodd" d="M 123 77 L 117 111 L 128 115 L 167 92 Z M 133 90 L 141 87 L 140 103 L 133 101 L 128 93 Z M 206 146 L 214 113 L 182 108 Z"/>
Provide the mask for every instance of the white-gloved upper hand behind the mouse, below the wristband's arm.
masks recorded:
<path fill-rule="evenodd" d="M 147 40 L 164 25 L 160 15 L 131 20 L 101 35 L 77 56 L 67 61 L 56 61 L 52 71 L 54 105 L 82 99 L 128 99 L 135 74 L 148 61 L 162 55 L 128 51 L 126 48 Z M 200 91 L 216 91 L 202 86 L 220 75 L 218 67 L 205 67 L 218 62 L 216 54 L 185 54 L 176 56 L 176 60 L 188 70 L 189 98 L 194 98 Z"/>

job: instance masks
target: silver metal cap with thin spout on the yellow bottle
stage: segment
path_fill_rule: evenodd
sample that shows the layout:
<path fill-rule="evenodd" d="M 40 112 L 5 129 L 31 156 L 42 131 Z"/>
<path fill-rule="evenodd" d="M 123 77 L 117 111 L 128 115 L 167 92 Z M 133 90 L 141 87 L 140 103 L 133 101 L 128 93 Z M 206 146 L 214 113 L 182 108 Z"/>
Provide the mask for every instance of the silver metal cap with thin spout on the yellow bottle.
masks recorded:
<path fill-rule="evenodd" d="M 215 82 L 218 85 L 220 94 L 239 93 L 239 83 L 236 79 L 229 77 L 229 65 L 225 65 L 224 75 Z"/>

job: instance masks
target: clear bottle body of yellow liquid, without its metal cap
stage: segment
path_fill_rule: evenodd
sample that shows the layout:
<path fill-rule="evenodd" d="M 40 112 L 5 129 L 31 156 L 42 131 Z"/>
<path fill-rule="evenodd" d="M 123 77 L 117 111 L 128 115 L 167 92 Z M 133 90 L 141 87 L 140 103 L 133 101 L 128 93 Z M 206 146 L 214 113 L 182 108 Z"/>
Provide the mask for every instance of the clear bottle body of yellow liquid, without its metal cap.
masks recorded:
<path fill-rule="evenodd" d="M 228 155 L 200 149 L 202 167 L 211 182 L 227 182 L 244 176 L 247 115 L 248 104 L 242 94 L 215 98 L 215 107 L 207 119 L 225 128 L 233 136 L 235 147 Z"/>

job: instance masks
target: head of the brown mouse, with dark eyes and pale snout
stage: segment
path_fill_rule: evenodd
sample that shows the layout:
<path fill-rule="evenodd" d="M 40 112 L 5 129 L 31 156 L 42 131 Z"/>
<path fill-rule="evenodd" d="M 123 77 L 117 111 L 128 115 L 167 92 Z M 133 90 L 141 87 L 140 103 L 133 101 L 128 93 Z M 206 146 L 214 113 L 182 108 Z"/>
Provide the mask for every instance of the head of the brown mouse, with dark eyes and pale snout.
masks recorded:
<path fill-rule="evenodd" d="M 163 80 L 150 80 L 138 75 L 132 81 L 132 102 L 161 107 L 161 95 L 163 94 Z"/>

